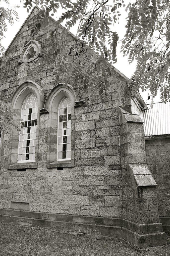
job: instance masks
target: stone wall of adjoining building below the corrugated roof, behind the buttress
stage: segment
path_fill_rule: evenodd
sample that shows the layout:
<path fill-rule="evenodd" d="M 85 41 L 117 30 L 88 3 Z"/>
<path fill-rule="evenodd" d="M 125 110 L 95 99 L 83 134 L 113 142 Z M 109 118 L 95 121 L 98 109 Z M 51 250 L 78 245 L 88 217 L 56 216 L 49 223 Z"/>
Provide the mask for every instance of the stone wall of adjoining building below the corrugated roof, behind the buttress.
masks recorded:
<path fill-rule="evenodd" d="M 170 217 L 170 138 L 145 140 L 147 165 L 157 184 L 159 217 Z M 164 220 L 165 221 L 165 220 Z M 169 224 L 170 225 L 170 224 Z"/>

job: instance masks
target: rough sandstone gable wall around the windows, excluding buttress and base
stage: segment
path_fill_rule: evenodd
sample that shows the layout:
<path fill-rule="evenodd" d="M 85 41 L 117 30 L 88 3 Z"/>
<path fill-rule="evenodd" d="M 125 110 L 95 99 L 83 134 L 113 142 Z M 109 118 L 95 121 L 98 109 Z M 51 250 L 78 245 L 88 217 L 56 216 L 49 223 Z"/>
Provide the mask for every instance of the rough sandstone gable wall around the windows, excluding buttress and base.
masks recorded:
<path fill-rule="evenodd" d="M 51 79 L 56 62 L 47 65 L 36 60 L 18 64 L 22 49 L 29 40 L 37 40 L 43 53 L 50 47 L 49 34 L 55 23 L 32 36 L 33 15 L 7 50 L 8 62 L 0 66 L 0 97 L 6 102 L 24 81 L 39 84 L 44 101 L 53 89 Z M 37 168 L 27 168 L 26 171 L 7 169 L 10 131 L 2 135 L 1 208 L 10 208 L 11 201 L 22 201 L 29 202 L 31 211 L 123 217 L 118 108 L 130 102 L 130 93 L 125 78 L 114 70 L 110 77 L 110 94 L 111 102 L 106 107 L 100 103 L 99 95 L 94 95 L 89 88 L 88 93 L 82 95 L 85 104 L 75 109 L 72 120 L 74 167 L 47 168 L 48 113 L 41 114 L 38 123 Z"/>

